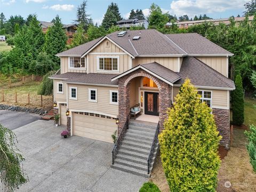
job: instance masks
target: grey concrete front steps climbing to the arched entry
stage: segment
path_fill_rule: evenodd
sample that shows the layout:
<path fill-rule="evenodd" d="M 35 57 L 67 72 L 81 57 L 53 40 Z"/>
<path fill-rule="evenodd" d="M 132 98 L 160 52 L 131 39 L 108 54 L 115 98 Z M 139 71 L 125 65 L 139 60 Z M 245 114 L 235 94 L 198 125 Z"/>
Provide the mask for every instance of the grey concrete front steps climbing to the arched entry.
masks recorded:
<path fill-rule="evenodd" d="M 154 140 L 157 124 L 131 119 L 129 130 L 124 137 L 121 148 L 115 159 L 114 169 L 149 178 L 148 155 Z M 158 144 L 157 144 L 158 148 Z M 156 151 L 151 163 L 150 173 L 155 161 Z"/>

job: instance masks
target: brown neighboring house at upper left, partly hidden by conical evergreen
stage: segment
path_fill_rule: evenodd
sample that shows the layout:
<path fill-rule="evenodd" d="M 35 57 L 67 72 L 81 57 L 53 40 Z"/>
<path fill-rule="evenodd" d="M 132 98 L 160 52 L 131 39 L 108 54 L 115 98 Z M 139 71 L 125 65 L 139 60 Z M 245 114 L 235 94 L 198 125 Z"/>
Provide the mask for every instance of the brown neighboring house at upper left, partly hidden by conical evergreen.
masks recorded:
<path fill-rule="evenodd" d="M 47 29 L 53 26 L 53 23 L 46 22 L 46 21 L 39 21 L 39 25 L 42 26 L 43 33 L 45 34 Z M 67 41 L 68 44 L 72 42 L 72 38 L 73 38 L 73 35 L 76 33 L 77 27 L 78 26 L 76 24 L 63 25 L 62 28 L 65 30 L 65 33 L 68 37 L 68 41 Z"/>

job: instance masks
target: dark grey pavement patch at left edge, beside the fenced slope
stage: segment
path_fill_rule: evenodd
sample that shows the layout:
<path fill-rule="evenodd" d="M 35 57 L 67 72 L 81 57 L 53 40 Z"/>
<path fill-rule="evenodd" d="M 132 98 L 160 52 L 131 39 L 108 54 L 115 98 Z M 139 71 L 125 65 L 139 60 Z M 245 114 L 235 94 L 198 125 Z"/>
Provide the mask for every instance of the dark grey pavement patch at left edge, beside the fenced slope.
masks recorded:
<path fill-rule="evenodd" d="M 37 114 L 0 110 L 0 124 L 10 130 L 17 129 L 40 118 L 42 118 L 42 116 Z"/>

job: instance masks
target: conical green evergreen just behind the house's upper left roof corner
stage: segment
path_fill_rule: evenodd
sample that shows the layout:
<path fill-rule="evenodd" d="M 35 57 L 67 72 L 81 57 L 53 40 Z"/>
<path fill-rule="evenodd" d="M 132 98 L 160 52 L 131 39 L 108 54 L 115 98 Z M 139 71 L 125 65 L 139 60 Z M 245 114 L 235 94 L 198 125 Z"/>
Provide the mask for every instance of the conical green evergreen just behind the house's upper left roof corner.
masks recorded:
<path fill-rule="evenodd" d="M 55 63 L 59 63 L 59 58 L 55 57 L 55 54 L 65 50 L 67 36 L 62 29 L 63 25 L 59 15 L 57 15 L 54 20 L 53 26 L 49 27 L 46 32 L 43 51 L 50 54 Z"/>

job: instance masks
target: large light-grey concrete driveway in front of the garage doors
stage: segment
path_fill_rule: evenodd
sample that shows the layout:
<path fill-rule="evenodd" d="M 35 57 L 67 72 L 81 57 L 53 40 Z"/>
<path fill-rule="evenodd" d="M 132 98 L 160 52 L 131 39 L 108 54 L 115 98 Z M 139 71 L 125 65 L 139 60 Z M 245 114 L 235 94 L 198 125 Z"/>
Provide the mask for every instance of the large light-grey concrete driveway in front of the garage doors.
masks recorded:
<path fill-rule="evenodd" d="M 110 168 L 112 143 L 64 139 L 53 121 L 15 129 L 29 182 L 17 191 L 139 191 L 146 178 Z"/>

